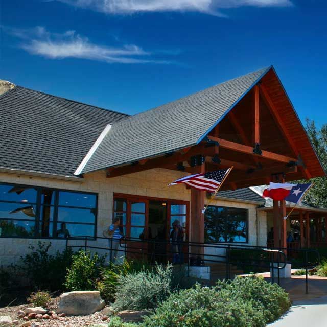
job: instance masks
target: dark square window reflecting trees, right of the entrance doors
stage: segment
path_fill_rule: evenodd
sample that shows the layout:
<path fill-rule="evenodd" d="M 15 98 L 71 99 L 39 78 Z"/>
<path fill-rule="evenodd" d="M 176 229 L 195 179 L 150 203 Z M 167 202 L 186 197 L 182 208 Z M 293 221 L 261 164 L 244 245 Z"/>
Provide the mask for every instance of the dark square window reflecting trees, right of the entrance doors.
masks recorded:
<path fill-rule="evenodd" d="M 205 211 L 205 242 L 247 243 L 247 209 L 209 206 Z"/>

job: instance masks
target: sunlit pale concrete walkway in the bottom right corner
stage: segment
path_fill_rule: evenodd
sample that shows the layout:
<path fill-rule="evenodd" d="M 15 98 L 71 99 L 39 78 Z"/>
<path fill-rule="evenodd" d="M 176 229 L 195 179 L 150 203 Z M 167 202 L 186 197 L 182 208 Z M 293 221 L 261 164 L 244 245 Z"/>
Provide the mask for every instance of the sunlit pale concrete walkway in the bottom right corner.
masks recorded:
<path fill-rule="evenodd" d="M 327 296 L 293 302 L 291 309 L 269 327 L 326 327 Z"/>

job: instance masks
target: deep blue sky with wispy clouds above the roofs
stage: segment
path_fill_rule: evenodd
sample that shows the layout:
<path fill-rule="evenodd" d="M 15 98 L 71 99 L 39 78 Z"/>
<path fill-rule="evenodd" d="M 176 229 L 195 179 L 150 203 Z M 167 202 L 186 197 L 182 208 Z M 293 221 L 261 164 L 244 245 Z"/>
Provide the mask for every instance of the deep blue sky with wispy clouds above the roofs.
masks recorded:
<path fill-rule="evenodd" d="M 301 120 L 327 123 L 323 0 L 0 6 L 0 79 L 134 114 L 273 64 Z"/>

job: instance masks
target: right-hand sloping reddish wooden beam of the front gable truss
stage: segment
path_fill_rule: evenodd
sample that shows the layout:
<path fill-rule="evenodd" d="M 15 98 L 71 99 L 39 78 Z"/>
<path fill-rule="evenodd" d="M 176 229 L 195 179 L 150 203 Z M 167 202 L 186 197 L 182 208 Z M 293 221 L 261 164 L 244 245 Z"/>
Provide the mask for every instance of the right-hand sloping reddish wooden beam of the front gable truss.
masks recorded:
<path fill-rule="evenodd" d="M 278 126 L 278 129 L 281 131 L 282 135 L 284 136 L 284 138 L 290 145 L 291 149 L 294 151 L 295 155 L 298 156 L 299 151 L 298 151 L 290 133 L 288 132 L 287 127 L 285 126 L 282 117 L 279 115 L 274 103 L 272 102 L 266 87 L 263 84 L 260 85 L 260 90 L 261 90 L 262 98 L 265 101 L 265 103 L 268 107 L 268 110 L 270 111 L 270 113 L 272 115 L 273 120 L 275 121 L 276 125 Z M 306 178 L 310 179 L 311 175 L 310 175 L 308 169 L 305 167 L 302 167 L 302 170 L 303 170 L 303 173 L 305 174 Z"/>

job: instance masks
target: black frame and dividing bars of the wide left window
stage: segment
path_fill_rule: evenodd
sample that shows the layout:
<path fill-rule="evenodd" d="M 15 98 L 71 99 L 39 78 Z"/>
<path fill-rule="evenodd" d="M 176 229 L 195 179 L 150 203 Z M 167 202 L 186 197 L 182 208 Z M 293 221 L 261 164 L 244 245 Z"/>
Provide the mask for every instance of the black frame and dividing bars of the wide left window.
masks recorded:
<path fill-rule="evenodd" d="M 26 188 L 33 188 L 36 189 L 36 202 L 29 202 L 28 204 L 35 205 L 36 210 L 35 210 L 35 219 L 14 219 L 14 218 L 3 218 L 0 217 L 0 220 L 8 220 L 8 221 L 14 221 L 14 220 L 19 220 L 19 221 L 34 221 L 34 236 L 26 237 L 26 236 L 0 236 L 0 239 L 45 239 L 45 240 L 67 240 L 66 238 L 60 238 L 56 236 L 57 233 L 57 226 L 58 226 L 58 208 L 73 208 L 73 209 L 95 209 L 95 221 L 94 223 L 83 223 L 83 222 L 65 222 L 67 224 L 75 224 L 75 225 L 89 225 L 89 226 L 94 226 L 94 235 L 89 236 L 89 240 L 96 240 L 97 239 L 97 226 L 98 226 L 98 200 L 99 200 L 99 194 L 95 192 L 88 192 L 88 191 L 76 191 L 76 190 L 67 190 L 67 189 L 59 189 L 59 188 L 49 188 L 46 186 L 38 186 L 38 185 L 27 185 L 27 184 L 16 184 L 16 183 L 11 183 L 11 182 L 0 182 L 0 185 L 10 185 L 10 186 L 21 186 L 21 187 L 26 187 Z M 42 190 L 48 190 L 48 191 L 53 191 L 55 192 L 55 197 L 54 197 L 54 204 L 53 205 L 44 205 L 42 204 Z M 78 194 L 90 194 L 94 195 L 95 198 L 95 208 L 90 208 L 90 207 L 77 207 L 77 206 L 65 206 L 65 205 L 59 205 L 59 192 L 69 192 L 69 193 L 78 193 Z M 18 201 L 6 201 L 6 200 L 1 200 L 0 203 L 15 203 L 15 204 L 22 204 L 22 202 Z M 53 223 L 52 226 L 52 236 L 41 236 L 39 234 L 39 227 L 41 224 L 41 207 L 53 207 Z M 61 223 L 62 221 L 59 221 Z M 50 223 L 50 221 L 49 221 Z M 50 228 L 49 228 L 50 232 Z M 81 237 L 74 237 L 75 240 L 82 240 L 84 236 Z"/>

